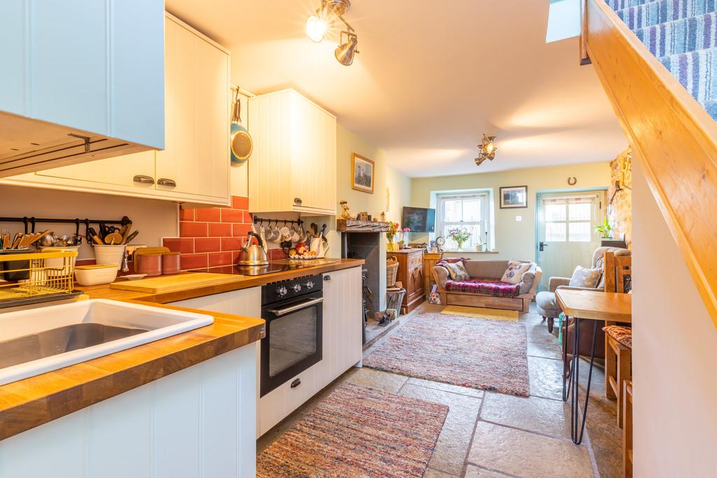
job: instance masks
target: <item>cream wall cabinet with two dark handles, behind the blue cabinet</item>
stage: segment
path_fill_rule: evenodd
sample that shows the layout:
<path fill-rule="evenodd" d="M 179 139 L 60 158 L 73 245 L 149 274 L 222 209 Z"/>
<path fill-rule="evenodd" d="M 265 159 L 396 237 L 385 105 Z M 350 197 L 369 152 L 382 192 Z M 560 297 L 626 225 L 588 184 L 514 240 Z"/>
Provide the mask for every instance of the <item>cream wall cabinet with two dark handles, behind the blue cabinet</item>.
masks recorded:
<path fill-rule="evenodd" d="M 229 53 L 165 19 L 165 149 L 15 176 L 3 183 L 229 204 Z"/>

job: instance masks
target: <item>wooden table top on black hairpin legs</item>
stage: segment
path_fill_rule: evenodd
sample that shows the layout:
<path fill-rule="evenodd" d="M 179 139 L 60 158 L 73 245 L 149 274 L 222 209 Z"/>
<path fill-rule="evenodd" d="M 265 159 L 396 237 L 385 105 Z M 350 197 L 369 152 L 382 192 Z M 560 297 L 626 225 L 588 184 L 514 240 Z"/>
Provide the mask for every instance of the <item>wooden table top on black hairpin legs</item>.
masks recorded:
<path fill-rule="evenodd" d="M 632 323 L 632 294 L 558 289 L 555 297 L 570 317 Z"/>

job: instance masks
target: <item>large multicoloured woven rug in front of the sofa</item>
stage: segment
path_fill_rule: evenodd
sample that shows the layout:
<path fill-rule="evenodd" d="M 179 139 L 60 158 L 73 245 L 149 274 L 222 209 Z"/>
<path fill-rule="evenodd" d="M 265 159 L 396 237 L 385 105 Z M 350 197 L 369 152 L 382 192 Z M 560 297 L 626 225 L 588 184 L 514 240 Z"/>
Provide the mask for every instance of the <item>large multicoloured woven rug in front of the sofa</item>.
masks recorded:
<path fill-rule="evenodd" d="M 376 345 L 364 366 L 526 397 L 527 347 L 521 323 L 420 314 Z"/>

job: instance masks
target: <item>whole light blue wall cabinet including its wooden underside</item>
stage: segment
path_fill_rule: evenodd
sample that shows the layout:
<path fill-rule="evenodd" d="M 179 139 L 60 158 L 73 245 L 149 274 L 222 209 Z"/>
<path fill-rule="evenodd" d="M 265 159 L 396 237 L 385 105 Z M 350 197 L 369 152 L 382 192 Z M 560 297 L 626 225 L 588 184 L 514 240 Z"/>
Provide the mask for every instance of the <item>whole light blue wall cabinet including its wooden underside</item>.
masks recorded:
<path fill-rule="evenodd" d="M 163 0 L 4 0 L 0 64 L 0 176 L 164 148 Z"/>

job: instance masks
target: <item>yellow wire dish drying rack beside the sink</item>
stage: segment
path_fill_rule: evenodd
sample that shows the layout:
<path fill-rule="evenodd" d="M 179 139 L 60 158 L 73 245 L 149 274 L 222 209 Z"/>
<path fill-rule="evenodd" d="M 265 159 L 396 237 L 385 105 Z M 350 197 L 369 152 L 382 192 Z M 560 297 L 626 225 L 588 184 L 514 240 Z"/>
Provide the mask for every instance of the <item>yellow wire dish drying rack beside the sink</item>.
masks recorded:
<path fill-rule="evenodd" d="M 62 300 L 73 290 L 76 251 L 0 254 L 0 308 Z"/>

